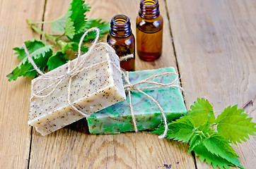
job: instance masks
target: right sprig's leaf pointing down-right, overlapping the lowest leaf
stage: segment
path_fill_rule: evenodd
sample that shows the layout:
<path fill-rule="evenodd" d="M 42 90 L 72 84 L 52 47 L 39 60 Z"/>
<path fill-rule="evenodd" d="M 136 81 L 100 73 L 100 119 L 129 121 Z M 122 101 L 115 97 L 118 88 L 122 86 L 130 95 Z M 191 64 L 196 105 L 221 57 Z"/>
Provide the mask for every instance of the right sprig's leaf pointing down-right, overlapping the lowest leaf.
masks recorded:
<path fill-rule="evenodd" d="M 214 132 L 209 138 L 204 139 L 202 143 L 211 154 L 220 156 L 230 163 L 233 163 L 233 165 L 243 168 L 243 166 L 239 164 L 239 156 L 235 154 L 232 146 L 225 137 L 221 136 L 221 134 Z"/>

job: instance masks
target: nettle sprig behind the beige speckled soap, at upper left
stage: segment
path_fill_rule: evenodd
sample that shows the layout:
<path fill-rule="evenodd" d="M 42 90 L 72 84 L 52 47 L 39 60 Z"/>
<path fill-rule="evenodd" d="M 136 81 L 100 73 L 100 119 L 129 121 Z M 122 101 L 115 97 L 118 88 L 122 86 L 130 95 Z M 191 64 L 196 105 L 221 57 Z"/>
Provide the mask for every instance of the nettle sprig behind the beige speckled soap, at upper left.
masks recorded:
<path fill-rule="evenodd" d="M 109 31 L 109 23 L 103 22 L 101 19 L 86 18 L 86 13 L 90 11 L 90 8 L 83 0 L 71 0 L 66 14 L 55 20 L 33 23 L 27 19 L 31 29 L 42 35 L 45 39 L 45 42 L 40 39 L 31 39 L 24 42 L 41 71 L 53 70 L 69 61 L 66 58 L 66 51 L 68 49 L 78 51 L 79 40 L 89 28 L 98 27 L 100 29 L 100 36 Z M 37 27 L 37 24 L 42 23 L 51 24 L 52 32 L 59 32 L 59 34 L 50 35 L 47 32 L 42 32 Z M 51 39 L 51 42 L 57 44 L 59 50 L 54 53 L 52 50 L 53 46 L 47 44 L 47 39 Z M 95 39 L 95 32 L 90 32 L 84 39 L 84 42 L 92 39 Z M 20 76 L 36 77 L 38 73 L 34 70 L 33 65 L 28 62 L 23 46 L 13 48 L 13 50 L 16 51 L 15 54 L 18 54 L 18 59 L 21 59 L 21 63 L 7 75 L 8 81 L 16 80 Z M 88 47 L 83 46 L 81 51 L 88 51 Z"/>

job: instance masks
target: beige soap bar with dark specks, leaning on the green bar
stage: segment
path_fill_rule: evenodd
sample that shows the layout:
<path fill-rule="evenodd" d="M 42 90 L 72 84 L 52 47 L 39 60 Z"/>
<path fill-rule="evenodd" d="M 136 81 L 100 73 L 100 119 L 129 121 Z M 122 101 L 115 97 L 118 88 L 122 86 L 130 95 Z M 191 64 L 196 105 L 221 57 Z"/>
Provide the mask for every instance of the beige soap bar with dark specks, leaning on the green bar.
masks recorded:
<path fill-rule="evenodd" d="M 76 59 L 71 61 L 71 68 Z M 93 65 L 95 63 L 98 64 Z M 73 77 L 71 82 L 71 103 L 79 111 L 90 115 L 126 99 L 120 61 L 110 46 L 101 44 L 93 49 L 84 66 L 89 67 Z M 45 75 L 63 75 L 67 69 L 68 66 L 65 64 Z M 54 82 L 54 80 L 37 80 L 41 77 L 33 80 L 35 93 Z M 83 118 L 83 115 L 69 106 L 67 86 L 68 79 L 64 80 L 50 96 L 33 99 L 30 103 L 28 125 L 33 125 L 37 132 L 46 135 Z M 46 89 L 41 95 L 50 93 L 52 88 Z"/>

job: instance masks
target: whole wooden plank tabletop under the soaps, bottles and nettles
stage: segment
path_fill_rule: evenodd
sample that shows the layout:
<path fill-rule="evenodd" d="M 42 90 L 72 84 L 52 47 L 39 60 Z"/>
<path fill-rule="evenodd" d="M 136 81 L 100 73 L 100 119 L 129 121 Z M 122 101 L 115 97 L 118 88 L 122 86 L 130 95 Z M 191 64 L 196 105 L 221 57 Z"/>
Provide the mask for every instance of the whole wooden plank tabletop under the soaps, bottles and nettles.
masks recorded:
<path fill-rule="evenodd" d="M 88 0 L 89 18 L 110 21 L 128 15 L 135 35 L 139 0 Z M 163 55 L 136 70 L 173 66 L 181 75 L 187 108 L 205 97 L 215 111 L 242 107 L 256 97 L 256 1 L 159 0 L 164 20 Z M 158 139 L 149 132 L 89 134 L 79 120 L 42 137 L 27 125 L 30 79 L 8 82 L 18 64 L 12 48 L 40 38 L 25 23 L 66 13 L 69 0 L 0 1 L 0 168 L 211 168 L 188 154 L 187 144 Z M 40 27 L 41 28 L 41 27 Z M 42 30 L 50 31 L 50 25 Z M 102 41 L 106 41 L 105 37 Z M 245 113 L 256 120 L 256 106 Z M 245 168 L 255 168 L 256 139 L 233 146 Z"/>

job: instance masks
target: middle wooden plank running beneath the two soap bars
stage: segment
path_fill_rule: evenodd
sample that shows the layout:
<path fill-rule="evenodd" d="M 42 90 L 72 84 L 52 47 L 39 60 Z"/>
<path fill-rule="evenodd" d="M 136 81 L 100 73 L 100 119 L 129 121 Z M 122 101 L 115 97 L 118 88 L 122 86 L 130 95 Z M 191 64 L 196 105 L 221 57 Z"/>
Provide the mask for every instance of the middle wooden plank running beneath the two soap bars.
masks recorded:
<path fill-rule="evenodd" d="M 139 1 L 86 1 L 92 6 L 89 17 L 109 21 L 113 15 L 129 15 L 135 33 Z M 163 56 L 148 63 L 136 58 L 136 69 L 175 66 L 164 1 L 161 13 L 165 20 Z M 63 4 L 59 8 L 59 4 Z M 69 1 L 47 1 L 45 20 L 62 15 Z M 54 10 L 53 10 L 54 9 Z M 47 27 L 45 27 L 48 29 Z M 105 41 L 105 39 L 104 39 Z M 45 137 L 33 131 L 30 168 L 194 168 L 187 144 L 158 139 L 149 132 L 122 134 L 88 134 L 85 120 L 69 125 Z"/>

